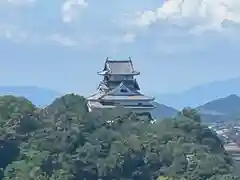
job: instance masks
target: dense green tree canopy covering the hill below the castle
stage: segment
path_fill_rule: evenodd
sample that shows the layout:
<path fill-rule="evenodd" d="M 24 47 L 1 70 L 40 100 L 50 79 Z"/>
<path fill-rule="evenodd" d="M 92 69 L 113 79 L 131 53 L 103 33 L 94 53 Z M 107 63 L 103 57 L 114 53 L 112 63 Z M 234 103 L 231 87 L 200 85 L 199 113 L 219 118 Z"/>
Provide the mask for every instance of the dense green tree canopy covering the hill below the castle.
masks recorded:
<path fill-rule="evenodd" d="M 0 98 L 3 180 L 230 180 L 232 159 L 192 109 L 152 123 L 124 109 L 87 112 L 69 94 L 45 109 Z"/>

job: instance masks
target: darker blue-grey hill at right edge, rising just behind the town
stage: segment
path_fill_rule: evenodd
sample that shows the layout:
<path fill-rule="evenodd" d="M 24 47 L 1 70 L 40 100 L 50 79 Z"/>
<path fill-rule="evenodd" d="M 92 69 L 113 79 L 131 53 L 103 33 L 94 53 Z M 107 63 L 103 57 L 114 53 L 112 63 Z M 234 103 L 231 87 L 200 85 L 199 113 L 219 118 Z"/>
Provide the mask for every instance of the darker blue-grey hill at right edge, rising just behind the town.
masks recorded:
<path fill-rule="evenodd" d="M 240 97 L 232 94 L 201 105 L 197 110 L 208 121 L 234 120 L 240 117 Z"/>

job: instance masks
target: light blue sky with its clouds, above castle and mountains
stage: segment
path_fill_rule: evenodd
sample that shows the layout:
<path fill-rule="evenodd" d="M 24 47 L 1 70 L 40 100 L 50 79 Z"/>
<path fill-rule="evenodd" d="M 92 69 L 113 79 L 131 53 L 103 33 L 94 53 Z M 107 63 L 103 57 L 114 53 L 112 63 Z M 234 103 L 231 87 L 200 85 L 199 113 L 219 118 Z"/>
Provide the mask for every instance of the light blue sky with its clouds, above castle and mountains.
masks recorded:
<path fill-rule="evenodd" d="M 0 84 L 93 92 L 107 56 L 143 91 L 240 76 L 238 0 L 1 0 Z"/>

